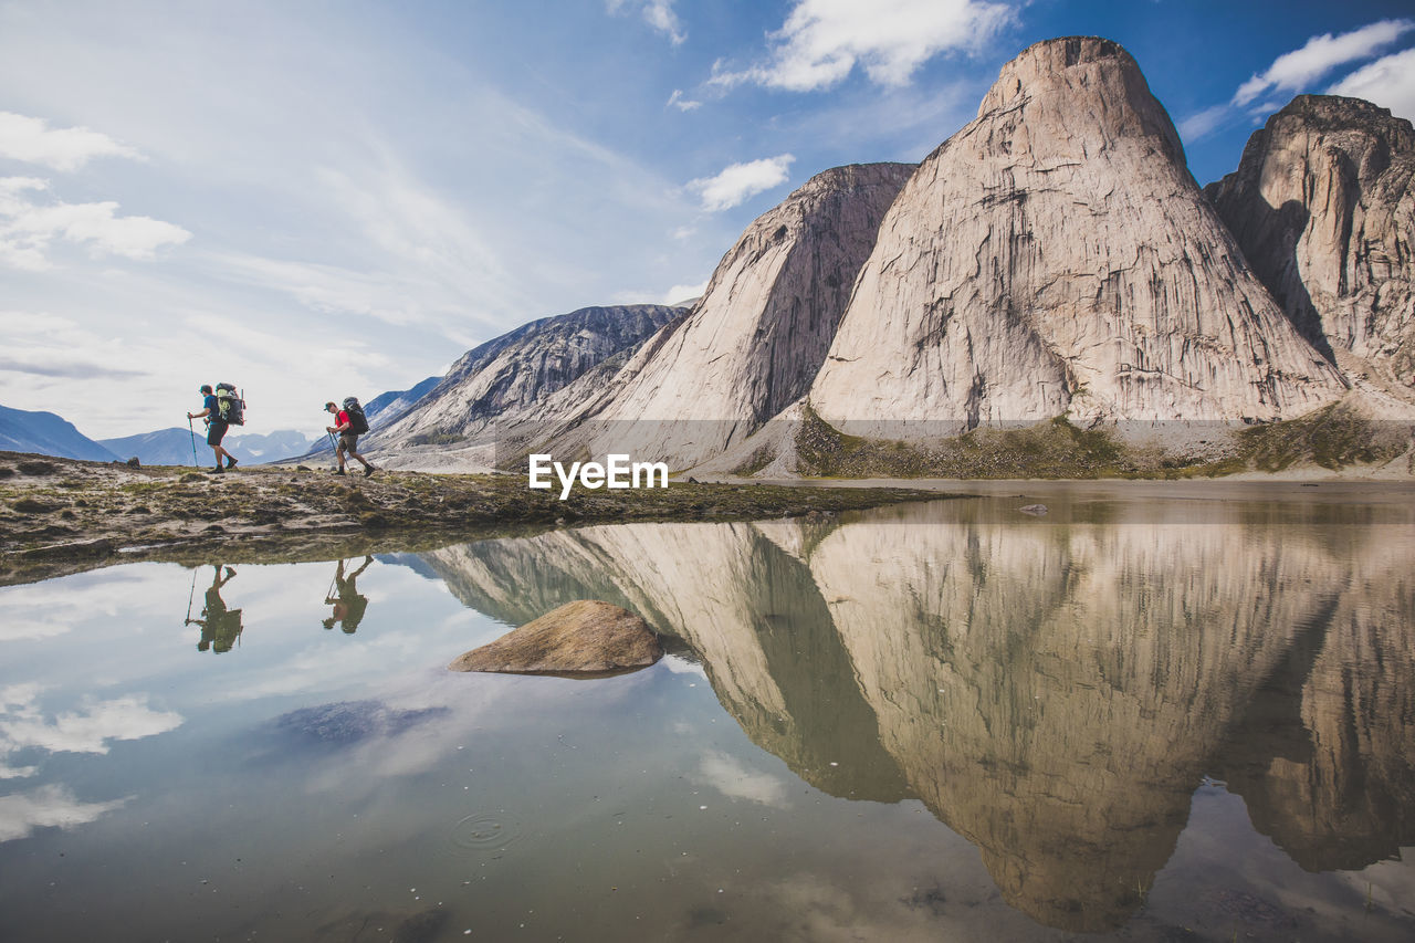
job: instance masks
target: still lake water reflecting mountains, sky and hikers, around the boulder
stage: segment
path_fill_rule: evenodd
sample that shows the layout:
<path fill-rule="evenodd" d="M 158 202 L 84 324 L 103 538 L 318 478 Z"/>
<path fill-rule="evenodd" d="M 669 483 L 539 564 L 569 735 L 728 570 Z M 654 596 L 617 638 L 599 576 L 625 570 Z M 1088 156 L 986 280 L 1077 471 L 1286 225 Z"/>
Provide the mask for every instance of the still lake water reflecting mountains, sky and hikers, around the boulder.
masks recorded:
<path fill-rule="evenodd" d="M 0 939 L 1409 940 L 1412 497 L 1053 486 L 4 588 Z M 671 654 L 444 670 L 586 598 Z"/>

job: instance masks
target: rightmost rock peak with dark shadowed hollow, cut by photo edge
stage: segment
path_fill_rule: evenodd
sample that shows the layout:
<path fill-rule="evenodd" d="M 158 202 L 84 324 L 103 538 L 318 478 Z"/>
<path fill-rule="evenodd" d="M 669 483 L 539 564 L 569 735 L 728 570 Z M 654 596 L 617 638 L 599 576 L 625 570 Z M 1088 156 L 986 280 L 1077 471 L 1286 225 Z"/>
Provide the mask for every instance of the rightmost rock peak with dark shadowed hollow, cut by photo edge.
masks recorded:
<path fill-rule="evenodd" d="M 1356 98 L 1300 95 L 1208 184 L 1258 278 L 1354 378 L 1415 401 L 1415 129 Z"/>

